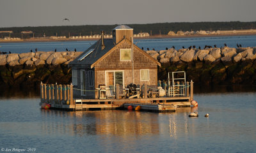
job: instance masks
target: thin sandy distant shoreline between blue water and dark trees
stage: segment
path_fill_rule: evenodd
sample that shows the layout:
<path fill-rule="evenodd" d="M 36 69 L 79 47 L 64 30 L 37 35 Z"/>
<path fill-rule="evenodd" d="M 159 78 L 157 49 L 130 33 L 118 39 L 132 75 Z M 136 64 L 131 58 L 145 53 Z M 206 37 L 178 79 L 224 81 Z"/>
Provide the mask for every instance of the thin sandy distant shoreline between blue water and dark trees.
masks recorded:
<path fill-rule="evenodd" d="M 163 38 L 200 38 L 200 37 L 219 37 L 219 36 L 255 36 L 256 33 L 241 33 L 241 34 L 194 34 L 194 35 L 184 35 L 184 36 L 169 36 L 169 35 L 154 35 L 146 37 L 136 37 L 134 40 L 145 40 L 145 39 L 163 39 Z M 110 39 L 110 38 L 109 38 Z M 0 40 L 0 43 L 29 43 L 29 42 L 54 42 L 54 41 L 93 41 L 99 40 L 99 38 L 91 39 L 50 39 L 50 38 L 30 38 L 23 40 Z"/>

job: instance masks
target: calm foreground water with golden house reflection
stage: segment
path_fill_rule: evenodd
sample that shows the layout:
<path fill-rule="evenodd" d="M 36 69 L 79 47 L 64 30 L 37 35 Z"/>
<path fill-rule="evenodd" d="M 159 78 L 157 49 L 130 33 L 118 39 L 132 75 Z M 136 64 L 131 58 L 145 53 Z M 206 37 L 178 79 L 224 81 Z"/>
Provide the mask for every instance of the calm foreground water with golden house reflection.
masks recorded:
<path fill-rule="evenodd" d="M 195 94 L 175 113 L 41 110 L 33 94 L 0 99 L 0 148 L 36 152 L 256 152 L 256 92 Z M 208 118 L 204 115 L 210 113 Z"/>

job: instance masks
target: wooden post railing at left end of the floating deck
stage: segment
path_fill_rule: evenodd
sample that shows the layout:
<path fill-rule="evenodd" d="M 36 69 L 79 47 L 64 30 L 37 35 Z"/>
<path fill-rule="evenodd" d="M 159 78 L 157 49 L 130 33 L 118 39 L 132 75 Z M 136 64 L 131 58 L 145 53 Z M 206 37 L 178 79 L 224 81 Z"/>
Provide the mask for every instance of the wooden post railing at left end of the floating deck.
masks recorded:
<path fill-rule="evenodd" d="M 51 105 L 74 105 L 73 85 L 40 84 L 40 98 L 42 103 Z"/>

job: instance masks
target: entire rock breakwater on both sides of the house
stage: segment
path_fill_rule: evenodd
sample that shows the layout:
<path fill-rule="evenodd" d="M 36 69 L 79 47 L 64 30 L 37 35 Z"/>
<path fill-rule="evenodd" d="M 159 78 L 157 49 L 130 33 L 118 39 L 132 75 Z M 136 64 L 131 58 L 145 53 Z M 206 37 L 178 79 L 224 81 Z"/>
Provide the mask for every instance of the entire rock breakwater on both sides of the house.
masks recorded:
<path fill-rule="evenodd" d="M 256 47 L 182 48 L 145 51 L 161 62 L 159 80 L 168 71 L 186 71 L 195 84 L 256 84 Z M 0 55 L 0 87 L 70 84 L 68 63 L 82 52 L 29 52 Z"/>

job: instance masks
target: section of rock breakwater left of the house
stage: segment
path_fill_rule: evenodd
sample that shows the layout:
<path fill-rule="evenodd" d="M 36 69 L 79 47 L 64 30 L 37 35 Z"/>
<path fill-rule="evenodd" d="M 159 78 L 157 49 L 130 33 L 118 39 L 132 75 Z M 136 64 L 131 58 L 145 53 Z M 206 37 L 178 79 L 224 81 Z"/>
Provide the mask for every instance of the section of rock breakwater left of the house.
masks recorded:
<path fill-rule="evenodd" d="M 28 52 L 0 55 L 0 87 L 37 87 L 40 82 L 70 84 L 67 64 L 82 52 Z"/>

